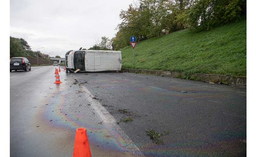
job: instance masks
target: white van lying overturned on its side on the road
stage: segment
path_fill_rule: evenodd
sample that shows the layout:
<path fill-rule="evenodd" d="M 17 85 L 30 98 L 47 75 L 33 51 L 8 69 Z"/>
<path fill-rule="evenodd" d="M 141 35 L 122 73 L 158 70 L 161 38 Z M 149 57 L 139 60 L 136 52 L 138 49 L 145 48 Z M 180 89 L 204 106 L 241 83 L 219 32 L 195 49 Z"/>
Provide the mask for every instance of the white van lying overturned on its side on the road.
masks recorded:
<path fill-rule="evenodd" d="M 66 72 L 119 71 L 121 51 L 70 50 L 66 53 Z"/>

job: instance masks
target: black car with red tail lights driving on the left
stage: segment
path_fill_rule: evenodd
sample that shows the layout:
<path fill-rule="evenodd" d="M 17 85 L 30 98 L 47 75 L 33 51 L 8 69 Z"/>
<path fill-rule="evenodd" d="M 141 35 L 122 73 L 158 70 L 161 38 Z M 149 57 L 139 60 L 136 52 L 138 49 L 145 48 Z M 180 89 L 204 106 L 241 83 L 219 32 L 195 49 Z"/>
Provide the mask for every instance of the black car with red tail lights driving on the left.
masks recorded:
<path fill-rule="evenodd" d="M 14 57 L 10 59 L 10 72 L 12 70 L 31 70 L 31 62 L 25 57 Z"/>

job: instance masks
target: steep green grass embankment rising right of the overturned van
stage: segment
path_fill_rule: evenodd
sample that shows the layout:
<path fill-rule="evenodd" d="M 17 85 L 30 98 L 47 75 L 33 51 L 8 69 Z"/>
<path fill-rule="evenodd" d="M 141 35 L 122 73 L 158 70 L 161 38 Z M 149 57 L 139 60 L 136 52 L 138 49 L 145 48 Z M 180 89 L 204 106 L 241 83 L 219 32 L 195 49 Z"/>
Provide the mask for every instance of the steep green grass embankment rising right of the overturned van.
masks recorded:
<path fill-rule="evenodd" d="M 246 77 L 246 16 L 213 30 L 185 29 L 122 48 L 122 68 Z"/>

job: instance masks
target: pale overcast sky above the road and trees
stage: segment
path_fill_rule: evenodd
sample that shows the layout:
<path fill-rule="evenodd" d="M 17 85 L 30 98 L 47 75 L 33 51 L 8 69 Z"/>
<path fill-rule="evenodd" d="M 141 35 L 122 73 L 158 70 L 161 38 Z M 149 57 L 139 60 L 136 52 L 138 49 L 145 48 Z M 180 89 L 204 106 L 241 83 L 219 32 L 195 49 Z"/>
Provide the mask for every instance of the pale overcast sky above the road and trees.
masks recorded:
<path fill-rule="evenodd" d="M 95 39 L 115 36 L 120 11 L 133 0 L 10 0 L 10 36 L 25 39 L 32 51 L 65 56 L 90 48 Z"/>

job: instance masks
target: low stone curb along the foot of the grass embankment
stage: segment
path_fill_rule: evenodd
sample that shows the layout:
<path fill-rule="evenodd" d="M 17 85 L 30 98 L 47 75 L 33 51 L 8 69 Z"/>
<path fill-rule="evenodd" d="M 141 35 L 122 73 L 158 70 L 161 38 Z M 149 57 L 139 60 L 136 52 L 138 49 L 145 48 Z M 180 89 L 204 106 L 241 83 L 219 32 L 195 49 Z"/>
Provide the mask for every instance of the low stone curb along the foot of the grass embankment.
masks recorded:
<path fill-rule="evenodd" d="M 140 73 L 140 74 L 149 74 L 149 75 L 157 75 L 157 76 L 171 76 L 175 77 L 176 75 L 185 76 L 183 72 L 174 72 L 174 71 L 163 71 L 163 70 L 144 70 L 144 69 L 128 69 L 122 68 L 122 71 L 125 70 L 128 73 Z M 215 75 L 215 74 L 193 74 L 190 77 L 196 78 L 198 81 L 209 81 L 215 83 L 225 83 L 231 85 L 241 85 L 246 86 L 246 77 L 229 77 L 225 75 Z"/>

